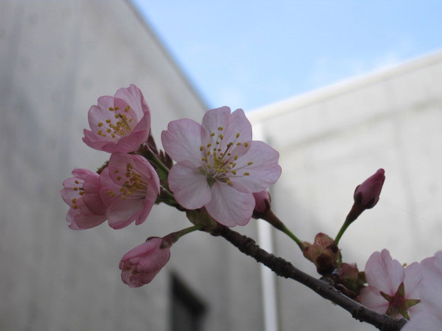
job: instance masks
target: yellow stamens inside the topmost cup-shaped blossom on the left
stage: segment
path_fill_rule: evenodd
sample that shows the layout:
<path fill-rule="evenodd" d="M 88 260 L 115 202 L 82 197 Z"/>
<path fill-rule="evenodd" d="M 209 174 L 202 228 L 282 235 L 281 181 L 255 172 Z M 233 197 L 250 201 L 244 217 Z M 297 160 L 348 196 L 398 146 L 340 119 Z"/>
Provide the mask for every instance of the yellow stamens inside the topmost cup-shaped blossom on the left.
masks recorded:
<path fill-rule="evenodd" d="M 118 107 L 109 107 L 108 109 L 110 112 L 114 113 L 114 116 L 106 119 L 104 123 L 99 122 L 97 124 L 99 128 L 102 128 L 97 131 L 97 134 L 102 137 L 108 137 L 108 135 L 110 135 L 112 138 L 121 138 L 131 134 L 133 129 L 133 118 L 128 114 L 131 106 L 126 106 L 124 108 L 126 114 L 120 112 Z"/>

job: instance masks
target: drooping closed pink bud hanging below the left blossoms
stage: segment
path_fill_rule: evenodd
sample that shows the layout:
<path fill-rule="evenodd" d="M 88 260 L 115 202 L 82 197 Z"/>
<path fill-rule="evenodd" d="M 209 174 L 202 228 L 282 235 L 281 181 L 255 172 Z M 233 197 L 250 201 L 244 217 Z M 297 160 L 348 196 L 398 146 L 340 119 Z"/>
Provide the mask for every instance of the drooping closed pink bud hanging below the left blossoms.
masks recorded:
<path fill-rule="evenodd" d="M 124 254 L 119 262 L 122 281 L 131 288 L 148 284 L 171 257 L 170 246 L 162 248 L 162 238 L 153 237 Z"/>

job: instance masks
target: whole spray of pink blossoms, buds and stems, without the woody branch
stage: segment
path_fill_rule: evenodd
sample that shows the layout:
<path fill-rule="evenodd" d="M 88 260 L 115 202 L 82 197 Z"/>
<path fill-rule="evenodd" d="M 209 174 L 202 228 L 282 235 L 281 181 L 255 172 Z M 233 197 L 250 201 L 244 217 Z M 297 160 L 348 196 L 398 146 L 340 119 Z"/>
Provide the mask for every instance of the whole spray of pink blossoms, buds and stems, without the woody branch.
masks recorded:
<path fill-rule="evenodd" d="M 193 223 L 164 237 L 149 237 L 124 254 L 119 269 L 130 287 L 150 283 L 184 234 L 219 234 L 222 225 L 246 225 L 252 217 L 261 218 L 293 239 L 318 273 L 347 297 L 379 314 L 409 320 L 404 331 L 442 330 L 442 251 L 407 266 L 387 250 L 374 252 L 364 272 L 342 261 L 340 238 L 378 203 L 385 181 L 382 168 L 356 187 L 354 204 L 336 238 L 320 232 L 308 243 L 271 210 L 268 188 L 281 174 L 279 153 L 252 140 L 251 123 L 242 109 L 208 110 L 201 123 L 171 121 L 161 134 L 164 151 L 157 149 L 151 111 L 135 85 L 117 90 L 113 97 L 100 97 L 90 107 L 88 121 L 84 143 L 111 155 L 97 172 L 78 168 L 63 182 L 69 228 L 85 230 L 105 221 L 113 229 L 140 225 L 155 203 L 186 212 Z"/>

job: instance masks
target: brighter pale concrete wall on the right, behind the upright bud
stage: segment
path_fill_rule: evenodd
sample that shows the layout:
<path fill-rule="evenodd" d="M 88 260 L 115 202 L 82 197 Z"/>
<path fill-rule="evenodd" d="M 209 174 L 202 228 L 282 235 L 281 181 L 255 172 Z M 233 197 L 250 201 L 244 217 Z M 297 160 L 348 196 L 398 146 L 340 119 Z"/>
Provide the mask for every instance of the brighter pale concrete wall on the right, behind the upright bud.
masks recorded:
<path fill-rule="evenodd" d="M 381 199 L 340 241 L 363 269 L 387 248 L 411 263 L 442 248 L 442 52 L 249 113 L 280 152 L 273 188 L 278 215 L 305 241 L 335 237 L 353 192 L 385 169 Z M 276 253 L 316 274 L 298 248 L 274 233 Z M 281 330 L 374 330 L 302 285 L 278 279 Z"/>

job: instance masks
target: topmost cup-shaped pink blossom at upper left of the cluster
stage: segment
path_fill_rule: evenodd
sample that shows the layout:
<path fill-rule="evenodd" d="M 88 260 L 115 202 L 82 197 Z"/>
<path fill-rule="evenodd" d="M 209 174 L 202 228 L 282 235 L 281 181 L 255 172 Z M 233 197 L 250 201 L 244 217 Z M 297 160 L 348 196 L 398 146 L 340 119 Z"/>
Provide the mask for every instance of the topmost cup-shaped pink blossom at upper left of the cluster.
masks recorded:
<path fill-rule="evenodd" d="M 88 112 L 91 130 L 84 129 L 83 141 L 95 150 L 135 152 L 149 135 L 151 112 L 135 85 L 120 88 L 114 97 L 99 97 Z"/>

